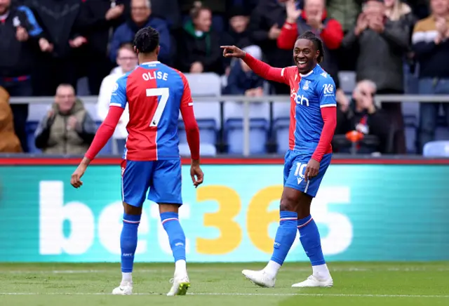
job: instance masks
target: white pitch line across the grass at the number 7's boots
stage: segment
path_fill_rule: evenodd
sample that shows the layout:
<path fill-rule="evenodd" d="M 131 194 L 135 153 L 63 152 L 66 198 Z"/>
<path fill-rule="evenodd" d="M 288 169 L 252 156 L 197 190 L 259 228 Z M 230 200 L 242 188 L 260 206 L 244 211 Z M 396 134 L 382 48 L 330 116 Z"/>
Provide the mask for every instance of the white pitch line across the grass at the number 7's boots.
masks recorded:
<path fill-rule="evenodd" d="M 112 295 L 111 293 L 27 293 L 11 292 L 0 295 Z M 133 293 L 133 295 L 164 295 L 161 293 Z M 449 298 L 449 295 L 400 295 L 400 294 L 345 294 L 345 293 L 188 293 L 188 295 L 227 296 L 321 296 L 351 298 Z"/>

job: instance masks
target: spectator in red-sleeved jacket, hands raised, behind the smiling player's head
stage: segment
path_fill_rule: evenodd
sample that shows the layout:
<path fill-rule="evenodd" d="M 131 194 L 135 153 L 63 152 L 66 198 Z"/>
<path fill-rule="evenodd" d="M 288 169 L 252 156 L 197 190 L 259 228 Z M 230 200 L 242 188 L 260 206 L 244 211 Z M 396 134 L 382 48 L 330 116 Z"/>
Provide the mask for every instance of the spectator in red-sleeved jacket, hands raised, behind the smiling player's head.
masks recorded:
<path fill-rule="evenodd" d="M 286 11 L 287 19 L 277 39 L 278 47 L 291 52 L 300 34 L 312 31 L 319 35 L 323 40 L 323 49 L 326 54 L 320 65 L 333 77 L 335 86 L 340 88 L 338 58 L 335 50 L 342 43 L 343 30 L 337 20 L 328 18 L 324 0 L 305 0 L 304 11 L 296 8 L 294 0 L 288 0 Z"/>

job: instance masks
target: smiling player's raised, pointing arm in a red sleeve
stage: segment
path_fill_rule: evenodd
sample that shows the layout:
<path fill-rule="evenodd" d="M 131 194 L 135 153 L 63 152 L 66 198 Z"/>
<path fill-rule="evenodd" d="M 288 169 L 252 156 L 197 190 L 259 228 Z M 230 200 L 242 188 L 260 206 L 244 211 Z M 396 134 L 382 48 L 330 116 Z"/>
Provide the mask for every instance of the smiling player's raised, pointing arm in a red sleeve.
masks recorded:
<path fill-rule="evenodd" d="M 258 76 L 261 76 L 269 81 L 276 81 L 289 85 L 286 68 L 271 67 L 270 65 L 262 62 L 262 60 L 253 58 L 253 56 L 249 55 L 245 51 L 242 51 L 236 46 L 222 46 L 221 48 L 223 49 L 223 56 L 225 56 L 225 58 L 241 58 Z"/>

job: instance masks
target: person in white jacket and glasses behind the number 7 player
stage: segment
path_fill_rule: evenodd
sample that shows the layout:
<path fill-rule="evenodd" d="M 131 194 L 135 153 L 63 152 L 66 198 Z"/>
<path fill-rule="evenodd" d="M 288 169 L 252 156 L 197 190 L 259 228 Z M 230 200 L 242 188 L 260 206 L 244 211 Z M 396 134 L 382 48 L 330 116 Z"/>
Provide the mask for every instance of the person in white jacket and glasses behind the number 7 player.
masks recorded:
<path fill-rule="evenodd" d="M 123 74 L 132 71 L 138 65 L 138 57 L 133 50 L 133 46 L 131 44 L 123 44 L 119 51 L 117 52 L 117 65 L 112 69 L 111 74 L 103 79 L 102 84 L 100 86 L 100 93 L 98 95 L 98 104 L 97 104 L 97 112 L 98 117 L 104 121 L 109 110 L 109 102 L 111 100 L 111 94 L 114 90 L 114 84 L 117 79 L 119 79 Z M 128 113 L 128 105 L 126 105 L 126 109 L 123 112 L 119 124 L 114 131 L 114 135 L 112 135 L 112 153 L 119 154 L 123 151 L 126 138 L 128 137 L 128 131 L 126 131 L 126 125 L 128 124 L 129 113 Z"/>

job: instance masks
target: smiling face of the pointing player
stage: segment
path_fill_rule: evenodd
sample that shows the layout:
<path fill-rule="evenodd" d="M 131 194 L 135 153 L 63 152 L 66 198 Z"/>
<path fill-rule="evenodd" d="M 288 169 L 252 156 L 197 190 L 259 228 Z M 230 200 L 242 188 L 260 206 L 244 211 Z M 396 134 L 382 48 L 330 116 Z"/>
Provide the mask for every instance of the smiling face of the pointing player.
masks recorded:
<path fill-rule="evenodd" d="M 293 60 L 295 60 L 301 74 L 307 74 L 311 69 L 314 69 L 319 54 L 320 51 L 309 39 L 298 39 L 296 41 L 295 48 L 293 48 Z"/>

